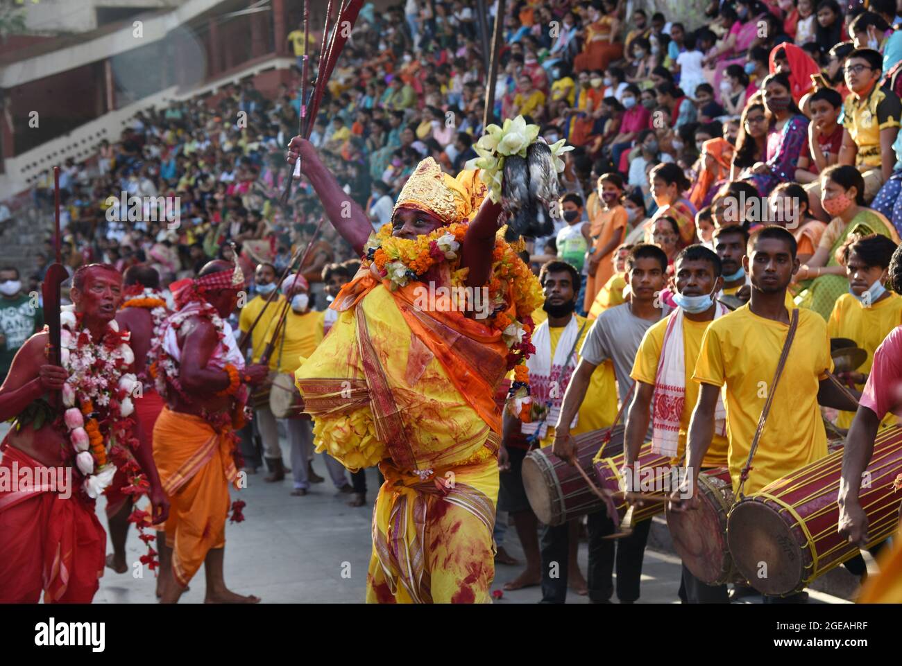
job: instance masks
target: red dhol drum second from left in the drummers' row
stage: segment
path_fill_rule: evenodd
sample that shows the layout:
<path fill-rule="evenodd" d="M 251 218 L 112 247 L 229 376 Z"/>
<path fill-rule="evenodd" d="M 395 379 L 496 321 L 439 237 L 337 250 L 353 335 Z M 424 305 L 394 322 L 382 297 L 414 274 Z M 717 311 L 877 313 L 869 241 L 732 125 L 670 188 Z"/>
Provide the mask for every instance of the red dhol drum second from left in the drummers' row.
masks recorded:
<path fill-rule="evenodd" d="M 665 502 L 658 501 L 658 499 L 667 496 L 671 489 L 676 489 L 679 485 L 674 477 L 676 468 L 670 464 L 671 460 L 669 456 L 652 452 L 651 442 L 642 444 L 639 457 L 636 459 L 638 466 L 633 466 L 633 470 L 638 470 L 638 473 L 633 472 L 636 477 L 633 487 L 638 486 L 640 492 L 653 493 L 654 496 L 649 497 L 649 501 L 644 506 L 635 507 L 630 521 L 631 527 L 635 527 L 637 523 L 648 520 L 651 516 L 663 511 Z M 598 487 L 612 493 L 621 493 L 621 468 L 625 461 L 626 454 L 622 450 L 613 456 L 608 456 L 608 452 L 604 452 L 604 457 L 596 456 L 594 468 Z M 622 520 L 628 508 L 626 500 L 615 499 L 614 503 L 617 507 L 617 514 Z"/>

